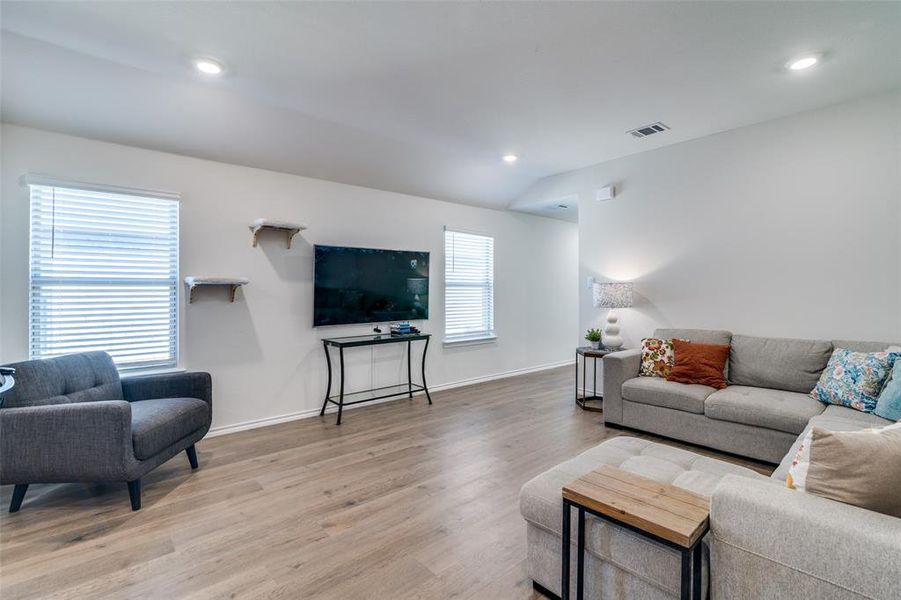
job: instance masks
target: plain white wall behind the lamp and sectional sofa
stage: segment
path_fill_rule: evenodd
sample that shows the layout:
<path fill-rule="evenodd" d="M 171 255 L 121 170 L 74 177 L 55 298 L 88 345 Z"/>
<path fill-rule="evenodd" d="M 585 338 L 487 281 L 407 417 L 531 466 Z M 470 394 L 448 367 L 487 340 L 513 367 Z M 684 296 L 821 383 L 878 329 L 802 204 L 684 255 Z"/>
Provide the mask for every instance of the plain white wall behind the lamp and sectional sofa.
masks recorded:
<path fill-rule="evenodd" d="M 658 326 L 899 340 L 899 167 L 894 93 L 554 176 L 518 203 L 580 194 L 581 329 L 605 316 L 595 276 L 635 281 L 618 311 L 633 347 Z"/>

